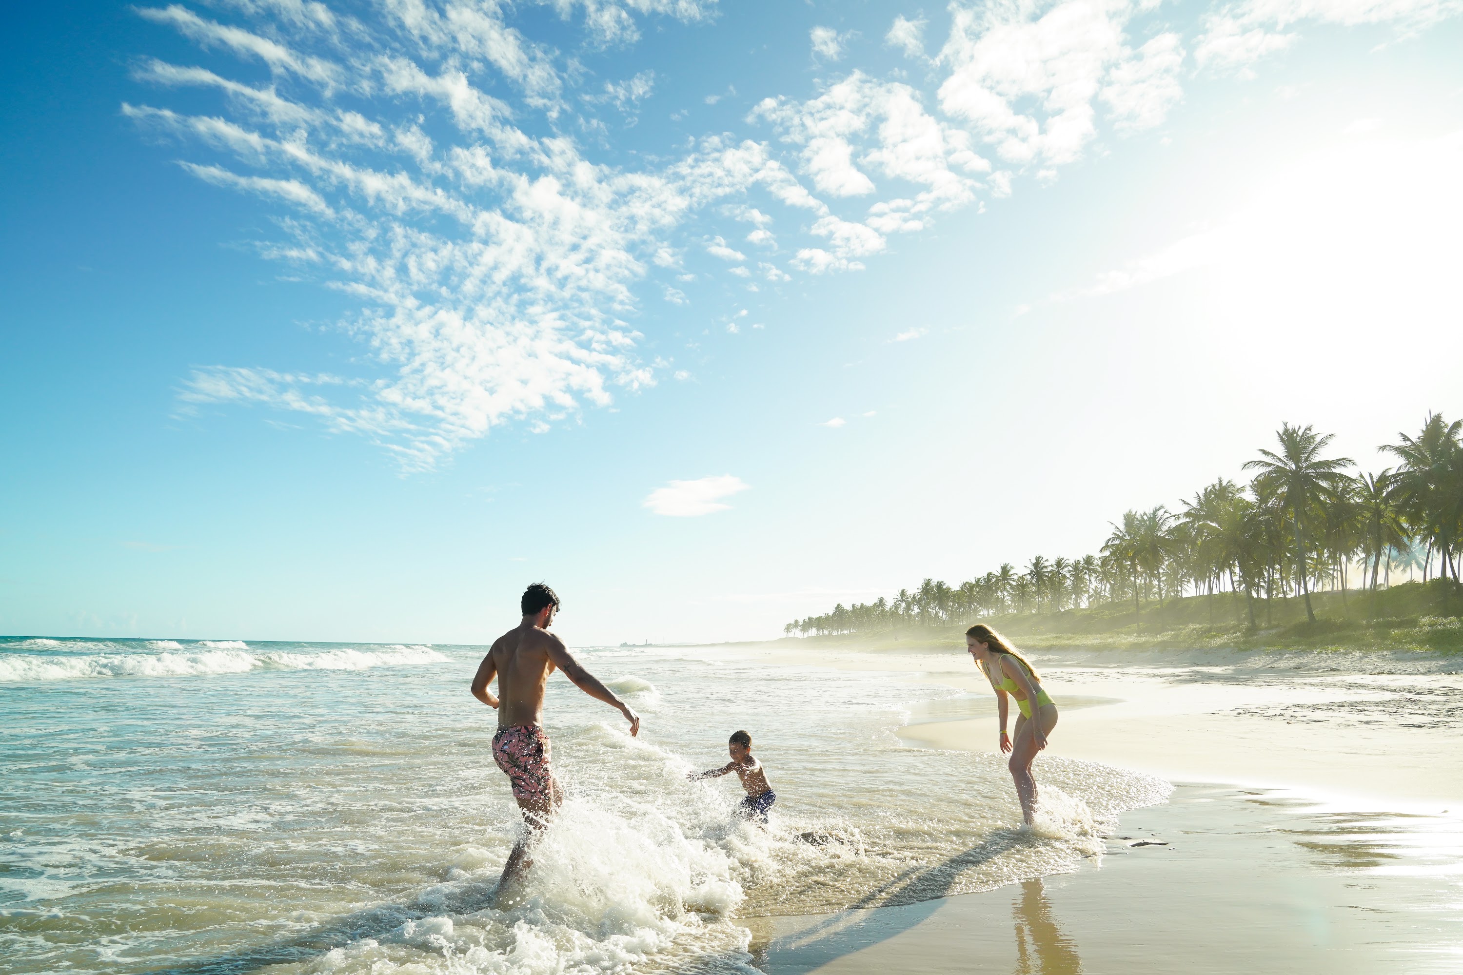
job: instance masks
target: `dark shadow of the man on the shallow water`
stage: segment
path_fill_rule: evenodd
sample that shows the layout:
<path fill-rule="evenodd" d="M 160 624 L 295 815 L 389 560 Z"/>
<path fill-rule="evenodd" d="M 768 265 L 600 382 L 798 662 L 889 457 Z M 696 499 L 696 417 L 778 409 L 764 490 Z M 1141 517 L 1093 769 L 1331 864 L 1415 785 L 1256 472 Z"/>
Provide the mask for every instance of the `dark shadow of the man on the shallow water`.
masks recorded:
<path fill-rule="evenodd" d="M 149 975 L 247 975 L 271 965 L 291 965 L 319 957 L 363 938 L 382 940 L 407 921 L 440 915 L 459 917 L 493 906 L 497 881 L 470 883 L 451 890 L 432 890 L 410 903 L 388 903 L 348 914 L 296 937 L 215 957 L 159 965 Z"/>

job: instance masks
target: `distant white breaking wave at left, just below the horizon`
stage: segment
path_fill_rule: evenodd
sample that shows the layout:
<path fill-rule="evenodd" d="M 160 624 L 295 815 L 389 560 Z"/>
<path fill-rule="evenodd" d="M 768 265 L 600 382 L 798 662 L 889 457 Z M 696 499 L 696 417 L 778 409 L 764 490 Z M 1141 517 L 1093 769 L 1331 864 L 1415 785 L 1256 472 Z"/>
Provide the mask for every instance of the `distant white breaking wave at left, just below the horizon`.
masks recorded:
<path fill-rule="evenodd" d="M 243 645 L 240 645 L 243 646 Z M 277 650 L 247 653 L 238 649 L 159 653 L 89 653 L 86 656 L 0 656 L 0 681 L 53 681 L 91 677 L 186 677 L 195 674 L 243 674 L 256 668 L 304 671 L 442 664 L 446 656 L 427 646 L 392 646 L 377 650 L 350 648 L 298 653 Z"/>

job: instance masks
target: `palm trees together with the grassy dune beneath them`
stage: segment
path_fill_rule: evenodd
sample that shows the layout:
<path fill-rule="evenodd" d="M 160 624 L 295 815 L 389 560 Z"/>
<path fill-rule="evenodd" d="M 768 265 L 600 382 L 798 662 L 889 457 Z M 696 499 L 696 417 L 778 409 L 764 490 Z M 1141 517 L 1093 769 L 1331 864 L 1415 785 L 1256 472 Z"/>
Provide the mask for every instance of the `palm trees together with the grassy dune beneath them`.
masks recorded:
<path fill-rule="evenodd" d="M 925 579 L 892 598 L 793 620 L 784 633 L 933 637 L 982 618 L 1046 634 L 1043 643 L 1061 633 L 1254 643 L 1277 627 L 1302 643 L 1347 629 L 1364 642 L 1396 643 L 1399 630 L 1422 627 L 1437 637 L 1419 637 L 1426 645 L 1463 645 L 1454 633 L 1463 612 L 1463 421 L 1431 414 L 1416 436 L 1378 449 L 1393 465 L 1375 472 L 1328 456 L 1331 439 L 1283 424 L 1276 449 L 1244 465 L 1254 472 L 1248 482 L 1219 478 L 1173 509 L 1125 512 L 1097 553 L 1039 554 L 955 585 Z M 1437 626 L 1423 623 L 1434 618 Z"/>

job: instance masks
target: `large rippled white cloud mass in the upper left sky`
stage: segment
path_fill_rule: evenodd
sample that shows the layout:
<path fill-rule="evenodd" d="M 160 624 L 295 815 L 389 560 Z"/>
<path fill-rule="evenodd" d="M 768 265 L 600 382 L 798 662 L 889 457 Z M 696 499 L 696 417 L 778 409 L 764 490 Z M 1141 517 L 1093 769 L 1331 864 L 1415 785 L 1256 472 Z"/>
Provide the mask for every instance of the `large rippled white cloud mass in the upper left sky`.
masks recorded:
<path fill-rule="evenodd" d="M 492 91 L 512 96 L 516 86 L 522 102 L 552 118 L 562 110 L 556 54 L 506 28 L 496 6 L 402 0 L 369 28 L 296 0 L 236 0 L 228 9 L 259 25 L 217 23 L 180 6 L 142 15 L 202 47 L 263 61 L 288 76 L 288 98 L 282 85 L 236 80 L 222 67 L 154 60 L 138 69 L 140 80 L 217 89 L 227 110 L 123 113 L 231 156 L 237 165 L 183 165 L 284 210 L 282 238 L 259 241 L 259 251 L 358 300 L 339 325 L 369 355 L 358 379 L 336 384 L 287 370 L 200 370 L 180 393 L 184 403 L 312 414 L 375 440 L 404 469 L 430 468 L 496 425 L 547 428 L 669 371 L 639 361 L 641 336 L 625 317 L 652 268 L 679 269 L 667 235 L 691 213 L 761 189 L 827 216 L 756 142 L 710 137 L 679 161 L 626 171 L 591 162 L 552 126 L 528 134 L 516 121 L 522 108 L 489 94 L 493 73 L 512 85 Z M 565 9 L 594 18 L 607 7 Z M 696 19 L 712 7 L 631 0 L 616 9 Z M 614 20 L 609 15 L 604 31 Z M 595 98 L 629 107 L 651 83 L 642 72 Z M 334 101 L 341 91 L 351 92 L 350 111 Z M 771 219 L 739 206 L 756 227 Z M 714 247 L 742 260 L 724 238 Z M 660 287 L 667 301 L 686 300 Z"/>

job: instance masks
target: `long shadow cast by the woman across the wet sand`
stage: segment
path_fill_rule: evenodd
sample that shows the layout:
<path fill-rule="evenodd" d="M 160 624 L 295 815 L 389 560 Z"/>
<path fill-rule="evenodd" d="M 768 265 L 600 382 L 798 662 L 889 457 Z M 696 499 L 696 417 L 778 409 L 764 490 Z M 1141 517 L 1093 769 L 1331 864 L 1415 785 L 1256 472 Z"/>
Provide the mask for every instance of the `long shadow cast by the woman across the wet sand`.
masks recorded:
<path fill-rule="evenodd" d="M 802 975 L 835 957 L 887 941 L 935 914 L 941 908 L 941 898 L 949 895 L 961 873 L 999 857 L 1020 842 L 1018 833 L 1008 832 L 933 867 L 903 873 L 809 928 L 761 946 L 752 944 L 752 965 L 775 971 L 777 975 Z"/>

